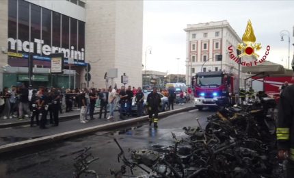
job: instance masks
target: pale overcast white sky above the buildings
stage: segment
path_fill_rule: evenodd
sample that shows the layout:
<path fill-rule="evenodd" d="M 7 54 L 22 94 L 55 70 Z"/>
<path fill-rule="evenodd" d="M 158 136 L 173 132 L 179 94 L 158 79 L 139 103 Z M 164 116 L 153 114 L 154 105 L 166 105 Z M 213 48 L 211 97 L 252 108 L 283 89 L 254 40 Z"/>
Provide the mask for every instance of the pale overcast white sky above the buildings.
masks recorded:
<path fill-rule="evenodd" d="M 281 41 L 280 32 L 289 31 L 291 63 L 294 1 L 144 0 L 143 65 L 147 51 L 147 71 L 185 74 L 186 32 L 183 29 L 187 24 L 227 20 L 242 38 L 249 19 L 256 42 L 262 44 L 260 51 L 266 51 L 267 45 L 271 47 L 267 60 L 288 66 L 289 37 L 286 32 Z"/>

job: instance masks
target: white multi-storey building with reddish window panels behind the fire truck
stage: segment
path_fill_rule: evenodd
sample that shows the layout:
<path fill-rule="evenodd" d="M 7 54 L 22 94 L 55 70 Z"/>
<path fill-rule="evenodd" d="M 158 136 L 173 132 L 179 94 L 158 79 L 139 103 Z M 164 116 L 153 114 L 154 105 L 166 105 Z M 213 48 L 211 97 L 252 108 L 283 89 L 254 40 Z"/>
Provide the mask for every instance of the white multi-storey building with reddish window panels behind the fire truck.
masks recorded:
<path fill-rule="evenodd" d="M 230 59 L 228 47 L 232 45 L 232 49 L 236 51 L 237 44 L 242 40 L 228 21 L 187 25 L 184 30 L 187 32 L 187 85 L 191 85 L 191 77 L 200 71 L 226 71 L 238 75 L 239 64 Z M 222 55 L 222 61 L 217 60 L 218 55 Z M 241 86 L 243 79 L 245 75 L 241 73 Z"/>

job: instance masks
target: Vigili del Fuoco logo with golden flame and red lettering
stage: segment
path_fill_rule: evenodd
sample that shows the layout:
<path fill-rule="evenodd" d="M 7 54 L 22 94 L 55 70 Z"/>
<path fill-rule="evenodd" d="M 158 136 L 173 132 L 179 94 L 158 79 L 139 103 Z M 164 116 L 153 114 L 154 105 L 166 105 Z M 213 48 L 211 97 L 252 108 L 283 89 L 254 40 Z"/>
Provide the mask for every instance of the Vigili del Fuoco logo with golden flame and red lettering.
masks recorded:
<path fill-rule="evenodd" d="M 267 55 L 269 55 L 269 50 L 271 49 L 271 47 L 267 45 L 267 51 L 265 51 L 265 55 L 263 55 L 263 58 L 260 58 L 260 60 L 258 60 L 259 55 L 256 53 L 256 51 L 259 51 L 262 47 L 260 43 L 256 43 L 256 37 L 254 35 L 253 27 L 250 20 L 247 23 L 245 33 L 243 34 L 243 37 L 242 37 L 242 41 L 243 43 L 241 44 L 239 43 L 237 45 L 237 49 L 240 51 L 239 55 L 234 54 L 232 45 L 228 47 L 231 60 L 234 60 L 235 62 L 239 64 L 241 60 L 240 58 L 244 55 L 247 55 L 247 56 L 253 56 L 255 60 L 250 62 L 243 61 L 241 62 L 242 66 L 256 66 L 258 64 L 265 62 L 265 60 L 267 59 Z"/>

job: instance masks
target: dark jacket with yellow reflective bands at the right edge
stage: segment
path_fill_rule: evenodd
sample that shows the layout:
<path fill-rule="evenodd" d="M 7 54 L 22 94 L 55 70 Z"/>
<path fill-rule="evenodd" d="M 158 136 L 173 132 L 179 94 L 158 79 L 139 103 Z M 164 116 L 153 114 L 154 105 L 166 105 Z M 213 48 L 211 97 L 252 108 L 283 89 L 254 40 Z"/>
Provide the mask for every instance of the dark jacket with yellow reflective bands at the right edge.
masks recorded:
<path fill-rule="evenodd" d="M 278 110 L 278 149 L 290 151 L 289 158 L 294 161 L 294 85 L 281 93 Z"/>

